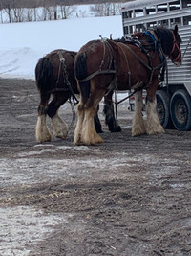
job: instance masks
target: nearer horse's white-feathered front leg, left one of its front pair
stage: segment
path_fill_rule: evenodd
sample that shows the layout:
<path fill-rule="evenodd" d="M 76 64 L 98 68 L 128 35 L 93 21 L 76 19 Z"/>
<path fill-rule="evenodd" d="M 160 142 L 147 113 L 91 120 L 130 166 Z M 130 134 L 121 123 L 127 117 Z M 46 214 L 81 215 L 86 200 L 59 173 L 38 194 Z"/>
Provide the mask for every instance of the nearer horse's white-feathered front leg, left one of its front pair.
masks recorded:
<path fill-rule="evenodd" d="M 135 93 L 135 115 L 132 125 L 132 136 L 137 136 L 146 133 L 146 128 L 142 116 L 142 108 L 142 91 L 138 91 Z"/>

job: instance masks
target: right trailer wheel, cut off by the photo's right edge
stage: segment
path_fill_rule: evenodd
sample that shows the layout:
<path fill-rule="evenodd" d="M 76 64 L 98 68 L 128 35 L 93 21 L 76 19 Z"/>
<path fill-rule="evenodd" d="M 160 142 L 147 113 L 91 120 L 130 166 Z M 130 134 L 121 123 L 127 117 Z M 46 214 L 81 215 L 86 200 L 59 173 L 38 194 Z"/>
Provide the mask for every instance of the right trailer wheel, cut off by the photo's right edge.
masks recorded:
<path fill-rule="evenodd" d="M 191 97 L 185 90 L 179 90 L 173 94 L 170 113 L 175 128 L 191 129 Z"/>

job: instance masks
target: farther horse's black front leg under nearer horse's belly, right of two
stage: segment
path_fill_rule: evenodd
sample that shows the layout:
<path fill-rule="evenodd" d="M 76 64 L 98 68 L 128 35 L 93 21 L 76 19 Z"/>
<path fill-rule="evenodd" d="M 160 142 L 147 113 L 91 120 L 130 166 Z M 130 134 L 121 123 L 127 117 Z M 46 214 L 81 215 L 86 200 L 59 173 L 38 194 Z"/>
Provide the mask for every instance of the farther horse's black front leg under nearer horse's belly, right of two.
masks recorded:
<path fill-rule="evenodd" d="M 104 108 L 103 112 L 105 114 L 105 124 L 109 127 L 111 132 L 121 131 L 120 126 L 117 125 L 117 120 L 114 113 L 114 104 L 112 101 L 113 91 L 104 97 Z"/>

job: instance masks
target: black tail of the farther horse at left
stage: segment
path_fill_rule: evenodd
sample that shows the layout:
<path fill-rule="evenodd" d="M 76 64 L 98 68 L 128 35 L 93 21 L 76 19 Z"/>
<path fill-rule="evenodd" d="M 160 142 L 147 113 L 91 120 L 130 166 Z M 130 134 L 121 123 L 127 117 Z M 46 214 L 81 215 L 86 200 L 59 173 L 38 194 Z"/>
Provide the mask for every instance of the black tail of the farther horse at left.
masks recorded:
<path fill-rule="evenodd" d="M 43 57 L 38 60 L 35 67 L 35 80 L 40 93 L 46 93 L 51 89 L 51 76 L 53 65 L 49 58 Z"/>

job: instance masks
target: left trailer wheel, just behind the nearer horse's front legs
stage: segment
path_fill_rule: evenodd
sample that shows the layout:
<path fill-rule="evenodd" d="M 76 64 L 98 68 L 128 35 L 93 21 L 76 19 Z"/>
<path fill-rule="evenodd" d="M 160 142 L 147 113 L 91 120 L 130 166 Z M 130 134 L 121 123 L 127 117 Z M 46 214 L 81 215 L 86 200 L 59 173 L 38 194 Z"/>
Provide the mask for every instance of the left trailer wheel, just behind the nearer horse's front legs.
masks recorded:
<path fill-rule="evenodd" d="M 159 90 L 156 94 L 157 97 L 157 112 L 160 124 L 163 128 L 174 128 L 170 116 L 169 97 L 165 91 Z"/>

